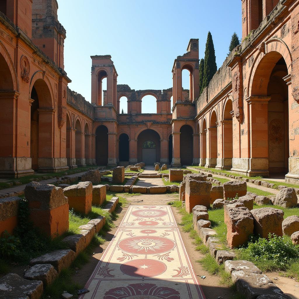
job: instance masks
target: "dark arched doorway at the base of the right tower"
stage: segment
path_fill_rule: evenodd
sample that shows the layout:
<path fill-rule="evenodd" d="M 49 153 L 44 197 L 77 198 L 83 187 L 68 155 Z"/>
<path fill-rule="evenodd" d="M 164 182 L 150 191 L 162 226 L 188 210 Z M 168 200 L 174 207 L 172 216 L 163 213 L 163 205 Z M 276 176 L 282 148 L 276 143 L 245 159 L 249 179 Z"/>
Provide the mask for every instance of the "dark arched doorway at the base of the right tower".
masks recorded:
<path fill-rule="evenodd" d="M 189 125 L 181 126 L 180 129 L 180 158 L 181 165 L 193 163 L 193 129 Z"/>

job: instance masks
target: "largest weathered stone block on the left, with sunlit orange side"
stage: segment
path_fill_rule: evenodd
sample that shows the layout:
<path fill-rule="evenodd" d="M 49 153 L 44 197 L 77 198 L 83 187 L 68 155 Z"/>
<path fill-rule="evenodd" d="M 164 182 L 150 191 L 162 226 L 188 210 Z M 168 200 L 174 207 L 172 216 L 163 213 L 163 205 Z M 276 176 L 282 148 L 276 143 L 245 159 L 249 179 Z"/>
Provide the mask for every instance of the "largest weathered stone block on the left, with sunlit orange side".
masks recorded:
<path fill-rule="evenodd" d="M 48 237 L 68 231 L 69 204 L 63 191 L 60 187 L 42 185 L 38 182 L 31 182 L 25 187 L 29 219 Z"/>

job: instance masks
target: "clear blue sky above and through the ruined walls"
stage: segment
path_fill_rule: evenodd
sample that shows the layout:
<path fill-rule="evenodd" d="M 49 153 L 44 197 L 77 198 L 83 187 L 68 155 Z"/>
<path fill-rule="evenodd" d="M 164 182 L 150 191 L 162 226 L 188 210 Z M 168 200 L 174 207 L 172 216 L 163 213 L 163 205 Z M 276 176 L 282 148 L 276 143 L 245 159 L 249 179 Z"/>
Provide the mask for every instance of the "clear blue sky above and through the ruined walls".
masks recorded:
<path fill-rule="evenodd" d="M 67 31 L 65 71 L 69 88 L 91 100 L 91 55 L 112 56 L 118 84 L 131 89 L 167 89 L 172 66 L 186 53 L 190 38 L 199 38 L 204 57 L 208 31 L 213 36 L 217 68 L 228 53 L 234 31 L 241 37 L 240 0 L 58 0 L 58 19 Z M 189 88 L 188 74 L 183 87 Z M 154 101 L 155 102 L 155 101 Z M 150 96 L 142 112 L 155 113 Z M 121 101 L 126 112 L 126 103 Z"/>

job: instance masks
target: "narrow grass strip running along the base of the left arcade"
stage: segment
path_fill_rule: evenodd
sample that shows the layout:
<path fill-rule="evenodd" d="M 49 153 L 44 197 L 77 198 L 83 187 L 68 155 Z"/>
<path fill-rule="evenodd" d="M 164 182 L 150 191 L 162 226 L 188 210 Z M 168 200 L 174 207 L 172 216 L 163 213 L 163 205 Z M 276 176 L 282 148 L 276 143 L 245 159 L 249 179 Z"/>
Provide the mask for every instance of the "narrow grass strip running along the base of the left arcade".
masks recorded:
<path fill-rule="evenodd" d="M 87 171 L 88 169 L 96 169 L 96 168 L 98 168 L 98 166 L 95 167 L 95 166 L 91 166 L 91 165 L 86 165 L 86 167 L 65 170 L 65 171 L 57 172 L 57 173 L 39 173 L 39 174 L 31 175 L 31 176 L 24 176 L 24 177 L 18 178 L 18 179 L 8 179 L 6 181 L 0 182 L 0 190 L 6 189 L 6 188 L 11 188 L 12 186 L 9 183 L 13 183 L 15 185 L 17 181 L 21 182 L 21 184 L 28 184 L 31 182 L 32 179 L 40 179 L 43 176 L 46 176 L 50 179 L 50 178 L 55 178 L 57 176 L 59 176 L 59 177 L 67 176 L 67 175 L 71 175 L 71 174 L 75 174 L 75 173 L 84 172 L 84 171 Z"/>

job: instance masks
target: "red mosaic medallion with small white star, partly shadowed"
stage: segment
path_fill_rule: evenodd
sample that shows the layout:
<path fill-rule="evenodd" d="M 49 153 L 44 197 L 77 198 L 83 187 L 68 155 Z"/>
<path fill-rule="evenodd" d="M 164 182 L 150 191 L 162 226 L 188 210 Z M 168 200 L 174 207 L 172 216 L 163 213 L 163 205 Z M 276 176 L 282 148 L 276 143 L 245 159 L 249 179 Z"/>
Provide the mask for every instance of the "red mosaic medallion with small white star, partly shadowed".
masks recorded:
<path fill-rule="evenodd" d="M 158 276 L 164 273 L 166 269 L 164 263 L 151 259 L 132 260 L 120 265 L 120 271 L 134 277 Z"/>

